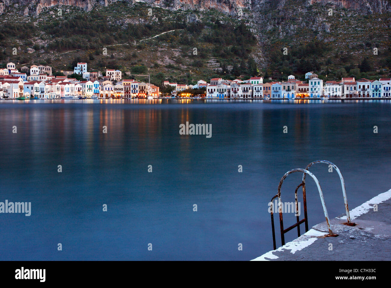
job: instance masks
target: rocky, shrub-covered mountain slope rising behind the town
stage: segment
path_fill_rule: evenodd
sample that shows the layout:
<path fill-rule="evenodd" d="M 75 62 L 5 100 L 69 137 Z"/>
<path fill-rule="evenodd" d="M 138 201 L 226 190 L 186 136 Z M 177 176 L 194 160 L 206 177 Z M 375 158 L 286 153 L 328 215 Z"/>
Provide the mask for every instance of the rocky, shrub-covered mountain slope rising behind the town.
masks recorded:
<path fill-rule="evenodd" d="M 328 79 L 353 72 L 375 78 L 391 67 L 388 0 L 64 0 L 70 6 L 60 7 L 54 0 L 1 1 L 3 62 L 69 70 L 80 59 L 94 70 L 146 74 L 149 68 L 156 81 L 160 72 L 181 82 L 213 74 L 278 79 L 307 70 Z"/>

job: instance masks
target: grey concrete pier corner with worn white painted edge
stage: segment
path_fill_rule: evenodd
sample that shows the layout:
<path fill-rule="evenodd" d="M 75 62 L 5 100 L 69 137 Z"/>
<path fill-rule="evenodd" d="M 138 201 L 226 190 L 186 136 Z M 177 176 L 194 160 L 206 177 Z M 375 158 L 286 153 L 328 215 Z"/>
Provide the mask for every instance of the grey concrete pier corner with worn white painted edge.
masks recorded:
<path fill-rule="evenodd" d="M 350 217 L 355 226 L 344 225 L 346 215 L 330 221 L 337 237 L 325 237 L 328 234 L 325 221 L 253 261 L 391 260 L 391 189 L 351 210 Z"/>

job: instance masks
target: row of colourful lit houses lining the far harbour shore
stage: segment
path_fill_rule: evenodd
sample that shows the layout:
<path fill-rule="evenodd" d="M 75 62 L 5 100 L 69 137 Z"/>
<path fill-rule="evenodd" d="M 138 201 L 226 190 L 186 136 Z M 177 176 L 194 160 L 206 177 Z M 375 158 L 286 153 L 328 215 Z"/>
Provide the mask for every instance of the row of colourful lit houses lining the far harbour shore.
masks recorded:
<path fill-rule="evenodd" d="M 120 70 L 88 72 L 85 62 L 77 63 L 69 77 L 62 71 L 62 75 L 54 76 L 52 67 L 44 65 L 20 69 L 26 73 L 19 72 L 13 62 L 0 69 L 0 99 L 391 99 L 391 78 L 355 79 L 352 76 L 327 81 L 327 75 L 324 77 L 314 71 L 302 75 L 301 79 L 289 75 L 287 81 L 283 80 L 282 73 L 280 81 L 258 75 L 233 80 L 217 77 L 211 78 L 210 83 L 198 79 L 193 84 L 189 84 L 188 79 L 186 84 L 161 79 L 154 85 L 150 75 L 145 78 L 146 83 L 123 79 Z"/>

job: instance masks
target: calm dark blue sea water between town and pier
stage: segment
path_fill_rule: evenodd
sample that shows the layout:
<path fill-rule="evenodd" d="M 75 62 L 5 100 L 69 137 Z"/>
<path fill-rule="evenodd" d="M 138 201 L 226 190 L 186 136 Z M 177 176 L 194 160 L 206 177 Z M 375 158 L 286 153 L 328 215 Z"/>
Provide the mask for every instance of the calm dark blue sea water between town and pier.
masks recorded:
<path fill-rule="evenodd" d="M 0 214 L 0 260 L 253 259 L 273 249 L 267 204 L 288 170 L 334 162 L 351 209 L 391 188 L 390 119 L 389 101 L 1 101 L 0 202 L 32 211 Z M 186 121 L 212 124 L 212 137 L 179 135 Z M 310 170 L 330 217 L 343 214 L 335 171 Z M 282 201 L 300 179 L 289 175 Z M 285 227 L 295 221 L 284 215 Z"/>

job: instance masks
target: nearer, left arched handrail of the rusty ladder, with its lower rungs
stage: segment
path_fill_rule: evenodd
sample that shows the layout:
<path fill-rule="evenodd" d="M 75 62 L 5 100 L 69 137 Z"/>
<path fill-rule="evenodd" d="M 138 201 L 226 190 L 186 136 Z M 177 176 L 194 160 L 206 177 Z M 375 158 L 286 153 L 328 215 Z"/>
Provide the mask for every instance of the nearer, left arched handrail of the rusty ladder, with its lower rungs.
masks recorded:
<path fill-rule="evenodd" d="M 274 247 L 274 250 L 276 250 L 276 237 L 275 237 L 275 232 L 274 232 L 274 218 L 273 218 L 273 200 L 275 198 L 278 197 L 278 212 L 279 212 L 279 216 L 280 216 L 280 233 L 281 233 L 281 243 L 282 245 L 285 245 L 285 238 L 284 238 L 284 234 L 286 232 L 288 232 L 289 230 L 293 229 L 294 227 L 298 227 L 301 223 L 305 222 L 306 224 L 306 232 L 308 231 L 308 219 L 307 219 L 307 209 L 305 209 L 305 218 L 296 222 L 296 224 L 288 227 L 287 229 L 284 230 L 284 227 L 283 227 L 283 218 L 282 218 L 282 210 L 281 210 L 281 205 L 280 203 L 281 202 L 281 186 L 282 186 L 282 183 L 283 181 L 285 180 L 285 178 L 287 178 L 287 176 L 291 173 L 294 173 L 294 172 L 303 172 L 304 175 L 305 174 L 308 174 L 311 176 L 312 179 L 314 179 L 315 181 L 315 184 L 318 188 L 318 191 L 319 191 L 319 196 L 320 196 L 320 199 L 321 199 L 321 203 L 322 203 L 322 206 L 323 206 L 323 212 L 325 214 L 325 218 L 326 218 L 326 223 L 327 223 L 327 227 L 328 227 L 328 236 L 336 236 L 336 234 L 333 234 L 331 228 L 330 228 L 330 223 L 328 221 L 328 212 L 327 212 L 327 208 L 326 208 L 326 205 L 325 205 L 325 198 L 323 197 L 323 192 L 322 192 L 322 188 L 320 187 L 320 184 L 319 184 L 319 181 L 317 180 L 317 178 L 314 176 L 314 174 L 312 174 L 310 171 L 306 170 L 306 169 L 301 169 L 301 168 L 296 168 L 296 169 L 292 169 L 292 170 L 289 170 L 287 173 L 284 174 L 284 176 L 282 176 L 281 180 L 280 180 L 280 183 L 278 184 L 278 191 L 277 191 L 277 194 L 272 198 L 271 200 L 271 223 L 272 223 L 272 232 L 273 232 L 273 247 Z M 304 201 L 304 205 L 306 206 L 306 196 L 305 196 L 305 182 L 302 182 L 300 185 L 298 185 L 298 187 L 296 187 L 296 191 L 295 191 L 295 201 L 296 201 L 296 209 L 298 209 L 298 202 L 297 202 L 297 190 L 300 186 L 303 186 L 303 201 Z M 306 207 L 305 207 L 306 208 Z M 298 210 L 296 210 L 297 212 Z M 296 219 L 298 220 L 298 216 L 296 216 Z M 298 227 L 298 234 L 300 236 L 300 228 Z"/>

